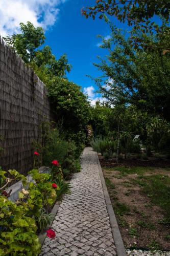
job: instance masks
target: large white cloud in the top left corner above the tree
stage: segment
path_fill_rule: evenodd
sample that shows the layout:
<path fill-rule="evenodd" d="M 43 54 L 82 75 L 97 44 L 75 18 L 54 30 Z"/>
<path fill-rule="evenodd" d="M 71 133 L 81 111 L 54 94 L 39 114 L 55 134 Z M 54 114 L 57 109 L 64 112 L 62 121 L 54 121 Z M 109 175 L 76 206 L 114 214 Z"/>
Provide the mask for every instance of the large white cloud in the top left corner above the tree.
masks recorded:
<path fill-rule="evenodd" d="M 66 0 L 0 0 L 0 34 L 19 32 L 19 23 L 33 23 L 46 29 L 58 18 L 59 5 Z"/>

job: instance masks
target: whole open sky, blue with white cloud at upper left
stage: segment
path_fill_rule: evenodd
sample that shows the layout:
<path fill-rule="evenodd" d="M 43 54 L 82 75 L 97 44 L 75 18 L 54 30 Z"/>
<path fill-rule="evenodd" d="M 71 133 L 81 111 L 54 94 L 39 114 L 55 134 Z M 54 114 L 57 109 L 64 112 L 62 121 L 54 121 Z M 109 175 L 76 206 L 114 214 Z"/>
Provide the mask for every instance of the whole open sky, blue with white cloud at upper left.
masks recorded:
<path fill-rule="evenodd" d="M 97 35 L 108 36 L 109 26 L 99 18 L 86 19 L 81 8 L 92 6 L 95 0 L 0 0 L 0 34 L 19 32 L 19 23 L 30 21 L 45 31 L 45 45 L 52 48 L 58 59 L 67 54 L 72 70 L 67 77 L 82 87 L 95 102 L 94 81 L 86 75 L 98 77 L 101 73 L 93 66 L 96 56 L 104 57 L 107 51 L 99 48 L 101 39 Z M 118 28 L 129 31 L 127 25 L 109 17 Z"/>

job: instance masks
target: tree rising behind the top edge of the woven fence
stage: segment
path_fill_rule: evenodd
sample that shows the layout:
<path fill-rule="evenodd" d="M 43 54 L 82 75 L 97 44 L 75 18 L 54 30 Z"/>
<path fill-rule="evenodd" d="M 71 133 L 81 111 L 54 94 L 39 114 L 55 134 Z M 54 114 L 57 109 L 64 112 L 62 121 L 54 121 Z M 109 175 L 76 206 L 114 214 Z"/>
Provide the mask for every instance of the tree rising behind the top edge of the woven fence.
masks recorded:
<path fill-rule="evenodd" d="M 41 71 L 46 74 L 52 74 L 65 77 L 66 72 L 70 72 L 71 65 L 63 54 L 58 60 L 52 53 L 50 46 L 44 46 L 45 35 L 41 27 L 35 28 L 31 22 L 27 24 L 20 23 L 20 34 L 4 37 L 4 40 L 11 45 L 20 57 L 29 65 L 36 69 L 41 67 Z"/>

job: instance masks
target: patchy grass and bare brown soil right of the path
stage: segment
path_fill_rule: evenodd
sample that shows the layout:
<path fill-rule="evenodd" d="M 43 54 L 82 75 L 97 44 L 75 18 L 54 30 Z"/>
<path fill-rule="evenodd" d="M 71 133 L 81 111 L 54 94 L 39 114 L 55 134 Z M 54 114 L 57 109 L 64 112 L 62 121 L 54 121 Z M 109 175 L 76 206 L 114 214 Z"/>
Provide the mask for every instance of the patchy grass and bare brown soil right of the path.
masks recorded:
<path fill-rule="evenodd" d="M 170 250 L 170 168 L 103 167 L 126 248 Z"/>

